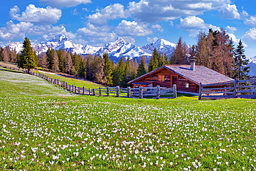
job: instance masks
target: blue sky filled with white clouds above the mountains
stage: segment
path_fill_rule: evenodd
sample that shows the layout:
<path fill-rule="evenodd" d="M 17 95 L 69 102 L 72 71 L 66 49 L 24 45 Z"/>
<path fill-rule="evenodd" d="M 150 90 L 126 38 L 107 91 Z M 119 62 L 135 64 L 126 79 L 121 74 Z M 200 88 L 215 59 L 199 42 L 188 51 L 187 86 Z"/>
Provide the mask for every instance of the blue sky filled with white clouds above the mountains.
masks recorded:
<path fill-rule="evenodd" d="M 3 0 L 1 0 L 3 1 Z M 225 29 L 256 55 L 255 0 L 22 0 L 0 6 L 0 45 L 32 43 L 65 34 L 74 43 L 103 46 L 122 37 L 136 46 L 163 38 L 189 46 L 199 30 Z"/>

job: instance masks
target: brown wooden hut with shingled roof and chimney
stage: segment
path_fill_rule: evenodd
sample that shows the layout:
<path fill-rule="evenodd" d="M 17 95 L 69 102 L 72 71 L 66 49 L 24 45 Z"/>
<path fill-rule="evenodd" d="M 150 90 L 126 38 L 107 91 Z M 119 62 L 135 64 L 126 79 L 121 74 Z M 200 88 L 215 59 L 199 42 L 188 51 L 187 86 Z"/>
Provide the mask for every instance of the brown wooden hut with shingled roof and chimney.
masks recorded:
<path fill-rule="evenodd" d="M 171 88 L 176 84 L 179 92 L 199 92 L 199 84 L 226 83 L 234 81 L 219 72 L 196 66 L 195 60 L 190 65 L 165 65 L 128 82 L 133 88 L 161 86 Z"/>

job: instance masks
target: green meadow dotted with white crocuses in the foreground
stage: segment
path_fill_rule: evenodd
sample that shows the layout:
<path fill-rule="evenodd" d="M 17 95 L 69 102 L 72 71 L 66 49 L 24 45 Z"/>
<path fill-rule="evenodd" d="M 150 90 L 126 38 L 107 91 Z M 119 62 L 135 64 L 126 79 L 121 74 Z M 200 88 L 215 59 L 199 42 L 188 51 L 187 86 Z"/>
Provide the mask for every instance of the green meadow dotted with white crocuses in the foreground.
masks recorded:
<path fill-rule="evenodd" d="M 256 170 L 256 101 L 73 95 L 0 70 L 0 170 Z"/>

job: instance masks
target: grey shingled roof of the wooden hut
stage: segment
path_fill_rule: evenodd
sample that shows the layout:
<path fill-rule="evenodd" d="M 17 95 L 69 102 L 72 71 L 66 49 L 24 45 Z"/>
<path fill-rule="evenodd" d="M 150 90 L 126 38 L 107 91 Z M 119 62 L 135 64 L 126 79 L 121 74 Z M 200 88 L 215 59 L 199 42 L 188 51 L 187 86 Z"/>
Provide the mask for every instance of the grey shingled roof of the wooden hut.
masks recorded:
<path fill-rule="evenodd" d="M 142 79 L 143 77 L 146 77 L 147 75 L 150 75 L 154 72 L 158 72 L 158 70 L 162 70 L 163 68 L 171 70 L 172 72 L 175 72 L 176 74 L 179 74 L 182 77 L 185 77 L 186 79 L 189 79 L 198 85 L 199 83 L 212 84 L 234 81 L 234 79 L 226 77 L 225 75 L 220 74 L 219 72 L 216 72 L 214 70 L 211 70 L 210 68 L 206 68 L 205 66 L 195 66 L 195 69 L 191 70 L 190 65 L 165 65 L 160 68 L 157 68 L 152 72 L 148 72 L 147 74 L 144 74 L 143 76 L 140 76 L 137 79 L 129 81 L 129 83 L 134 83 L 135 81 L 138 81 L 139 79 Z"/>

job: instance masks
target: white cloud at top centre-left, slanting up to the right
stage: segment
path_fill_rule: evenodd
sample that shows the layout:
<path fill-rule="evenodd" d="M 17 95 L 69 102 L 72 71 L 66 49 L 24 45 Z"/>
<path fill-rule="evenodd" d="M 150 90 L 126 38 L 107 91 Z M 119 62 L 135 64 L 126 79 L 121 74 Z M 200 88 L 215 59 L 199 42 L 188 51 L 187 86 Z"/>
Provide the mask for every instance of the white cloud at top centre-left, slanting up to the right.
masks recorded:
<path fill-rule="evenodd" d="M 129 13 L 124 9 L 124 6 L 120 3 L 115 3 L 111 6 L 107 6 L 102 10 L 98 10 L 95 14 L 89 15 L 88 22 L 94 25 L 102 26 L 107 24 L 110 19 L 127 18 Z"/>

